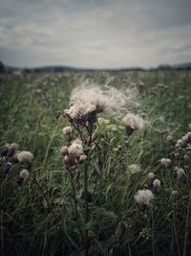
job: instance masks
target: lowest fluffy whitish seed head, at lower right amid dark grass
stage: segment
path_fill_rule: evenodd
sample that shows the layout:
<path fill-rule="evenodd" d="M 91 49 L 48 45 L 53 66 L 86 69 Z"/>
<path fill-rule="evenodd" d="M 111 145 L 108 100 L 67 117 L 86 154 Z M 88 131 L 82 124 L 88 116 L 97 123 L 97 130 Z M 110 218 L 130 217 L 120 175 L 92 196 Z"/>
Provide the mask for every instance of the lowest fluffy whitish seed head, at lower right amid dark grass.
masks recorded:
<path fill-rule="evenodd" d="M 145 204 L 149 206 L 151 205 L 154 195 L 150 190 L 143 189 L 143 190 L 138 190 L 134 198 L 138 204 Z"/>

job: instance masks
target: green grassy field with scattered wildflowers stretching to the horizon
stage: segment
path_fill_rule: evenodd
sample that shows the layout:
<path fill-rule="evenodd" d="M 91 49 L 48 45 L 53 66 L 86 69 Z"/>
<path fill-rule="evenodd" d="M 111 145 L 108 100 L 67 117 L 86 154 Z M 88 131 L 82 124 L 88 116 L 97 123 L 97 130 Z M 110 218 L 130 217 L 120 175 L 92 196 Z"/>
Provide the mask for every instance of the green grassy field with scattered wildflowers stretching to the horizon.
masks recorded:
<path fill-rule="evenodd" d="M 121 119 L 97 114 L 102 140 L 92 164 L 71 175 L 60 153 L 69 125 L 62 113 L 79 81 L 102 85 L 108 77 L 119 90 L 138 88 L 139 105 L 128 110 L 147 126 L 130 136 L 126 149 Z M 25 166 L 12 155 L 0 158 L 1 255 L 191 255 L 191 141 L 175 146 L 191 131 L 190 71 L 1 75 L 0 102 L 1 152 L 17 143 L 33 153 L 23 182 Z M 161 166 L 163 157 L 170 167 Z M 185 172 L 181 178 L 177 168 Z M 149 173 L 161 184 L 141 210 L 134 196 L 148 188 Z"/>

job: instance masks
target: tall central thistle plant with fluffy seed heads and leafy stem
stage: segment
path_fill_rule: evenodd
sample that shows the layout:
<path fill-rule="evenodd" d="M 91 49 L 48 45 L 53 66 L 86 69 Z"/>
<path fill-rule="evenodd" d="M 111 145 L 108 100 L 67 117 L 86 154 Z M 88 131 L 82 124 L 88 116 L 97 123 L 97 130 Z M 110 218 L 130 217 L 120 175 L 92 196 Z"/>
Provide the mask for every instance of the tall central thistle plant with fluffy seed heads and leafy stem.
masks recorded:
<path fill-rule="evenodd" d="M 75 88 L 70 107 L 63 113 L 68 125 L 63 128 L 65 145 L 60 152 L 63 155 L 65 170 L 70 176 L 74 198 L 74 220 L 82 236 L 86 255 L 90 247 L 87 226 L 93 218 L 92 212 L 96 207 L 94 192 L 89 188 L 92 184 L 98 184 L 101 178 L 107 178 L 104 168 L 108 160 L 106 152 L 110 150 L 109 136 L 100 130 L 97 116 L 100 113 L 108 115 L 119 113 L 117 95 L 121 98 L 121 93 L 113 87 L 108 89 L 90 85 L 82 86 L 81 91 Z M 124 99 L 122 105 L 129 104 L 130 96 L 126 97 L 126 100 L 124 97 L 121 98 Z M 122 113 L 122 109 L 120 111 Z M 124 124 L 126 135 L 124 132 L 123 145 L 117 145 L 117 157 L 110 162 L 110 175 L 115 170 L 115 166 L 123 162 L 123 155 L 128 151 L 130 136 L 136 129 L 141 129 L 145 125 L 143 119 L 133 113 L 128 113 L 121 121 L 117 122 Z"/>

